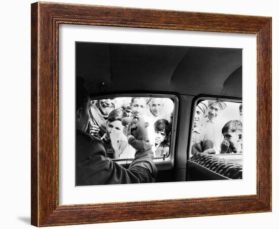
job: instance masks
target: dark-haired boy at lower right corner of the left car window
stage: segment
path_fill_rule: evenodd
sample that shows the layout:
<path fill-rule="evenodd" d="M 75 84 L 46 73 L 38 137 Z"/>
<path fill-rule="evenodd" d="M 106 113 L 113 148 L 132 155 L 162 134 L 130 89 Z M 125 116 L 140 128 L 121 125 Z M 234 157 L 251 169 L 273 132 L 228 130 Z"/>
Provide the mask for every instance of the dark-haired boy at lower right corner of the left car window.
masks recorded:
<path fill-rule="evenodd" d="M 154 123 L 155 131 L 155 157 L 167 157 L 169 154 L 168 136 L 170 125 L 167 120 L 159 119 Z"/>

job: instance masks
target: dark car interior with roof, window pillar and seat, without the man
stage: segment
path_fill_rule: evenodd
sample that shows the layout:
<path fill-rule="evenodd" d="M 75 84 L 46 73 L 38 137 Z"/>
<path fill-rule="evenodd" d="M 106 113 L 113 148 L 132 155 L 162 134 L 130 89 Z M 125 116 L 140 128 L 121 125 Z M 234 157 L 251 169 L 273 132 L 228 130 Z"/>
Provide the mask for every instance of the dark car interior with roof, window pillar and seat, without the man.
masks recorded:
<path fill-rule="evenodd" d="M 191 154 L 197 103 L 242 101 L 241 49 L 76 42 L 76 77 L 85 79 L 92 101 L 172 101 L 169 154 L 154 159 L 156 182 L 242 178 L 241 154 Z M 132 162 L 114 160 L 125 168 Z"/>

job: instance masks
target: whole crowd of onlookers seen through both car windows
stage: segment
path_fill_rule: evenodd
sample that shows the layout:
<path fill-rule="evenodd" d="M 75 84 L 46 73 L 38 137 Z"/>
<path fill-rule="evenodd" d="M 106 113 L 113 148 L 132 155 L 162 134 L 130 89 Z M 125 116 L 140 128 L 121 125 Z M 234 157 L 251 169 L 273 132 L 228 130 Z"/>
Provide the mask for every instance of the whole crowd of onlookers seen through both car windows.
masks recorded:
<path fill-rule="evenodd" d="M 106 157 L 132 159 L 135 149 L 124 135 L 125 117 L 142 117 L 147 125 L 148 142 L 155 158 L 169 155 L 171 112 L 163 112 L 164 98 L 125 97 L 91 101 L 90 125 L 87 132 L 103 141 Z M 242 152 L 242 104 L 238 120 L 220 122 L 227 102 L 203 100 L 196 105 L 191 154 L 230 154 Z M 165 110 L 164 110 L 165 111 Z"/>

